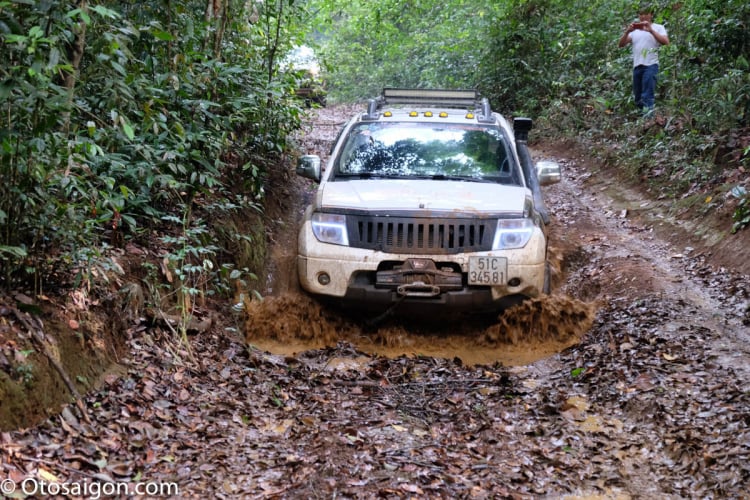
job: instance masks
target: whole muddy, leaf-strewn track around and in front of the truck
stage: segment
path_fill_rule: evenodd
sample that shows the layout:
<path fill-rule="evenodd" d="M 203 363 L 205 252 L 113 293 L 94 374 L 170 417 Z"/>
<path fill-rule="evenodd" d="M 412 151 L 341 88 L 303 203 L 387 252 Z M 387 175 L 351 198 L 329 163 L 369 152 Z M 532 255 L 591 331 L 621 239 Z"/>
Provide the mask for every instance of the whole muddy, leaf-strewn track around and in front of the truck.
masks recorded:
<path fill-rule="evenodd" d="M 328 150 L 345 111 L 315 114 L 306 151 Z M 586 158 L 534 155 L 564 167 L 546 196 L 552 297 L 440 331 L 321 308 L 292 273 L 310 187 L 282 172 L 268 297 L 244 328 L 187 352 L 134 325 L 127 373 L 85 398 L 86 417 L 2 434 L 0 479 L 175 483 L 175 497 L 746 498 L 750 278 Z"/>

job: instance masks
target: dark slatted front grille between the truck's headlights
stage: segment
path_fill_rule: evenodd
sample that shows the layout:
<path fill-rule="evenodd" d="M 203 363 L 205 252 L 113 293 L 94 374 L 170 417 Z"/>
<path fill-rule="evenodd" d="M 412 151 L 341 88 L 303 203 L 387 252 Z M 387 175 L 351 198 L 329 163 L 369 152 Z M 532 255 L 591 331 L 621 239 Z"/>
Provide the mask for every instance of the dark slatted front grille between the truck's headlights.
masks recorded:
<path fill-rule="evenodd" d="M 456 254 L 492 249 L 497 222 L 348 216 L 349 245 L 388 253 Z"/>

